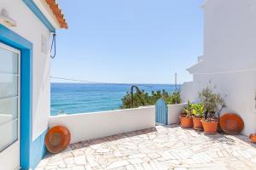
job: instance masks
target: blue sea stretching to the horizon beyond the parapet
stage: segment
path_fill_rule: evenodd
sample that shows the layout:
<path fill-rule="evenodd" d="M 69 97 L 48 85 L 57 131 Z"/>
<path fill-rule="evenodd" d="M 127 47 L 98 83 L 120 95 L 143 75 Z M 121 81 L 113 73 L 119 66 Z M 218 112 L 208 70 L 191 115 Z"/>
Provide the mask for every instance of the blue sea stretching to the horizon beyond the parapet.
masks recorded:
<path fill-rule="evenodd" d="M 117 110 L 122 105 L 122 97 L 127 91 L 131 91 L 131 85 L 51 83 L 51 115 Z M 172 93 L 175 90 L 175 86 L 171 84 L 137 84 L 137 86 L 148 93 L 162 89 Z"/>

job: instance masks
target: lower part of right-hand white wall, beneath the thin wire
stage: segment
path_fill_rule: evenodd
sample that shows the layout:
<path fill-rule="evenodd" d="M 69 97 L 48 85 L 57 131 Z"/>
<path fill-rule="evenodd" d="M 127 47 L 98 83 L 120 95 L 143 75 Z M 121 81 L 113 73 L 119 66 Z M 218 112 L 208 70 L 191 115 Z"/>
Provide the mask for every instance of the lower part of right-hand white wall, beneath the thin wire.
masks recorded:
<path fill-rule="evenodd" d="M 245 122 L 242 133 L 248 135 L 256 130 L 256 110 L 255 110 L 255 92 L 256 92 L 256 71 L 195 75 L 194 82 L 190 84 L 190 91 L 183 93 L 183 99 L 197 102 L 198 94 L 202 88 L 209 86 L 211 80 L 212 86 L 216 85 L 215 92 L 224 97 L 227 108 L 222 112 L 232 112 L 240 115 Z"/>

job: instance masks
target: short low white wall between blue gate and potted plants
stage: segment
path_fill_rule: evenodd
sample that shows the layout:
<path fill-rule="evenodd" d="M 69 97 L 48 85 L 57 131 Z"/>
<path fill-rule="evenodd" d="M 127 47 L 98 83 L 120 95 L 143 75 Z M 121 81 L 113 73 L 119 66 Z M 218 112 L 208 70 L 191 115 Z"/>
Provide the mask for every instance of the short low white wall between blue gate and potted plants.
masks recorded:
<path fill-rule="evenodd" d="M 175 124 L 179 122 L 178 116 L 183 111 L 183 106 L 187 104 L 175 104 L 175 105 L 167 105 L 168 106 L 168 124 Z"/>

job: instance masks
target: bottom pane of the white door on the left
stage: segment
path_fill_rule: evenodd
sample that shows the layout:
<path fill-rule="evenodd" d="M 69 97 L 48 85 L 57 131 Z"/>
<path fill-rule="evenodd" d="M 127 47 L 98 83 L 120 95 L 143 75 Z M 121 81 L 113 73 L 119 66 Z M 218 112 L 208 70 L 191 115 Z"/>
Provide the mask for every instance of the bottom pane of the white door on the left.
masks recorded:
<path fill-rule="evenodd" d="M 0 124 L 0 134 L 0 151 L 2 151 L 18 139 L 18 120 Z"/>

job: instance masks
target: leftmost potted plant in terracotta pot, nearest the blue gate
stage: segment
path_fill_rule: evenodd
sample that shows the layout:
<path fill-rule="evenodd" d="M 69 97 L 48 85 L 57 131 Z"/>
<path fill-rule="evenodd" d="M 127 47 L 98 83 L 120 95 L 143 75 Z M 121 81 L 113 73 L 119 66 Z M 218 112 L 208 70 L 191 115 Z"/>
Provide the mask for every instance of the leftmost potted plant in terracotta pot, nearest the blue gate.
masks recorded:
<path fill-rule="evenodd" d="M 192 105 L 193 104 L 188 101 L 188 105 L 183 107 L 183 114 L 179 116 L 181 127 L 193 127 Z"/>

